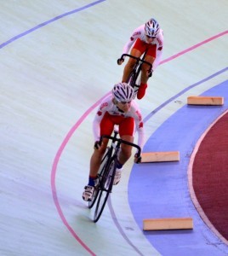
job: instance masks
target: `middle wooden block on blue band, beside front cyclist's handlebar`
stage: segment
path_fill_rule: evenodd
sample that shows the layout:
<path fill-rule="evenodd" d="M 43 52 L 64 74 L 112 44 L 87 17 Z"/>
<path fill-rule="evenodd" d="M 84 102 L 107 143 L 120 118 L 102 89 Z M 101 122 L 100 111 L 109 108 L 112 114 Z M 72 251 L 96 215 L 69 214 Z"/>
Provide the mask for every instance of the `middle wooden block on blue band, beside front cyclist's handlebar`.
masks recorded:
<path fill-rule="evenodd" d="M 171 162 L 180 160 L 179 151 L 167 151 L 167 152 L 146 152 L 141 154 L 142 163 L 150 162 Z"/>

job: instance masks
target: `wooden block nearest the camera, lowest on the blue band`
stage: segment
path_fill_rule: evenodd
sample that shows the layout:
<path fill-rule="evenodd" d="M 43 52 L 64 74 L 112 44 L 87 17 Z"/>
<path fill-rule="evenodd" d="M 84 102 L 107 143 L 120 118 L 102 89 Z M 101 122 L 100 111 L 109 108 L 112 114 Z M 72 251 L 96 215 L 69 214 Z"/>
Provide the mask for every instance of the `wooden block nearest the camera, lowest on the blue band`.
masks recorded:
<path fill-rule="evenodd" d="M 145 218 L 143 230 L 192 230 L 192 218 Z"/>

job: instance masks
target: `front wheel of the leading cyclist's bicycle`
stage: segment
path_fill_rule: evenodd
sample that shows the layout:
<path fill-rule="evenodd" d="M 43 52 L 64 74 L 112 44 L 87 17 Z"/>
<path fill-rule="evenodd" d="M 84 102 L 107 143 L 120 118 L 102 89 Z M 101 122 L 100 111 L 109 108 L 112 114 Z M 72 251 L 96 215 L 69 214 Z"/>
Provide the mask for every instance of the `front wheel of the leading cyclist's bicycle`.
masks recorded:
<path fill-rule="evenodd" d="M 117 159 L 114 158 L 111 160 L 110 164 L 106 166 L 104 177 L 102 178 L 102 181 L 100 183 L 100 194 L 98 196 L 98 201 L 94 212 L 94 222 L 97 222 L 99 220 L 105 208 L 108 196 L 111 193 L 114 176 L 116 173 L 116 161 Z"/>

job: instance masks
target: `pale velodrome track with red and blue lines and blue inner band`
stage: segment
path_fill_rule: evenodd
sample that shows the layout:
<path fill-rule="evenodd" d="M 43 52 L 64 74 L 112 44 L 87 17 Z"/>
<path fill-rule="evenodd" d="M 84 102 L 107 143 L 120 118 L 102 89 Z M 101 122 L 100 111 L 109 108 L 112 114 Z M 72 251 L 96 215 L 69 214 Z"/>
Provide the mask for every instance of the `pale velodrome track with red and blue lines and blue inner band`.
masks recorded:
<path fill-rule="evenodd" d="M 145 149 L 181 146 L 185 157 L 191 153 L 188 147 L 194 148 L 200 134 L 225 112 L 227 102 L 214 108 L 210 118 L 195 122 L 197 130 L 188 129 L 180 118 L 189 110 L 189 95 L 219 90 L 227 96 L 227 3 L 1 5 L 1 255 L 226 255 L 225 241 L 203 224 L 192 205 L 187 160 L 178 167 L 180 186 L 174 183 L 176 164 L 148 170 L 129 161 L 98 224 L 91 222 L 81 195 L 96 107 L 121 79 L 123 67 L 116 60 L 130 32 L 151 16 L 165 32 L 165 51 L 139 102 L 148 138 Z M 190 139 L 180 140 L 183 145 L 172 142 L 179 137 L 174 135 L 177 127 L 191 133 Z M 158 182 L 160 188 L 165 184 L 161 193 Z M 172 200 L 163 198 L 165 189 L 174 186 Z M 145 210 L 150 205 L 153 212 Z M 165 214 L 168 207 L 172 214 L 191 214 L 194 230 L 144 234 L 142 215 Z"/>

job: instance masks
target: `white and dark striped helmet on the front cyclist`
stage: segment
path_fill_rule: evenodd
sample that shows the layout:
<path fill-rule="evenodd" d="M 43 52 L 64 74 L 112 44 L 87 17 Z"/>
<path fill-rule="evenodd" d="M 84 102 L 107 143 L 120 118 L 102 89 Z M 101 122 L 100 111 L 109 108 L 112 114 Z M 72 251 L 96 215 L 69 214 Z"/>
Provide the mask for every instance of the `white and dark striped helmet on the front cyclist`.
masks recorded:
<path fill-rule="evenodd" d="M 117 102 L 130 102 L 134 98 L 134 89 L 127 83 L 115 84 L 112 95 Z"/>

